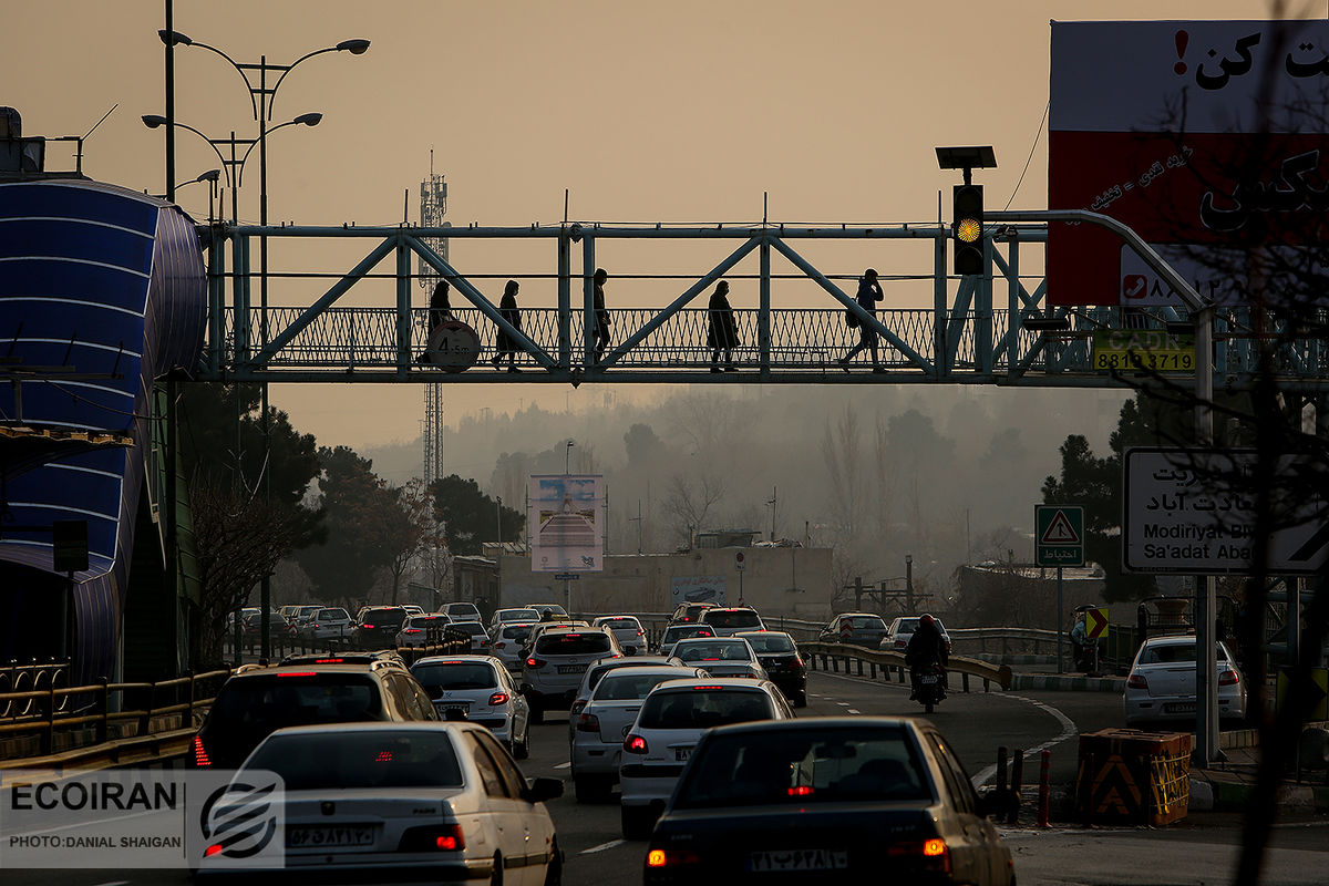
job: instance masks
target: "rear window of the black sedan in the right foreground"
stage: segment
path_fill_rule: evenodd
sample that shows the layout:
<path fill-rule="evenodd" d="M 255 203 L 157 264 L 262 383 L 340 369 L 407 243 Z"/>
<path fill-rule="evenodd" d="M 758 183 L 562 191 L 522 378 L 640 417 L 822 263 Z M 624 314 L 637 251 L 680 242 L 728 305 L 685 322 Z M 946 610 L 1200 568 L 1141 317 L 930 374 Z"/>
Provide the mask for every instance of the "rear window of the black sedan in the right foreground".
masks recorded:
<path fill-rule="evenodd" d="M 674 806 L 926 801 L 926 785 L 900 728 L 740 732 L 700 748 Z"/>

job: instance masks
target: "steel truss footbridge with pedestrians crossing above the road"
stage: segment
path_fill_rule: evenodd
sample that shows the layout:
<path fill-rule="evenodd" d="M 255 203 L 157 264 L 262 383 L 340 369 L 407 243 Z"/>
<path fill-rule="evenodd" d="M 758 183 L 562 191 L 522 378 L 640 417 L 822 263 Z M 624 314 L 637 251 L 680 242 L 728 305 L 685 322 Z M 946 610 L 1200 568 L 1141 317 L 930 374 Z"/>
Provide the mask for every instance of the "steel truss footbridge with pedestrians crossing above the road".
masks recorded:
<path fill-rule="evenodd" d="M 991 217 L 993 214 L 990 214 Z M 1021 222 L 1051 213 L 1005 213 L 985 231 L 985 274 L 948 274 L 950 228 L 930 224 L 792 226 L 760 222 L 678 227 L 666 224 L 574 223 L 522 227 L 201 227 L 209 266 L 209 335 L 202 381 L 227 383 L 762 383 L 762 384 L 1005 384 L 1031 387 L 1119 387 L 1127 380 L 1095 372 L 1090 363 L 1094 329 L 1166 328 L 1184 324 L 1184 308 L 1050 307 L 1042 278 L 1046 222 Z M 1130 232 L 1124 232 L 1130 242 Z M 455 264 L 429 246 L 445 240 Z M 688 254 L 712 258 L 682 274 L 631 274 L 614 267 L 606 287 L 611 343 L 597 360 L 591 275 L 601 255 L 622 250 L 622 240 L 668 242 Z M 481 246 L 486 255 L 504 248 L 548 244 L 548 270 L 484 274 L 466 267 L 465 256 Z M 530 242 L 538 242 L 532 246 Z M 825 243 L 857 242 L 856 256 L 873 255 L 886 292 L 885 306 L 908 291 L 917 308 L 885 307 L 868 315 L 855 302 L 856 279 L 867 263 L 805 258 Z M 905 242 L 912 246 L 905 248 Z M 611 246 L 606 246 L 611 244 Z M 1136 243 L 1135 246 L 1143 247 Z M 346 271 L 318 272 L 298 267 L 287 254 L 315 264 L 335 247 Z M 839 247 L 837 247 L 839 248 Z M 255 271 L 260 251 L 268 272 Z M 1144 247 L 1147 251 L 1147 247 Z M 890 255 L 897 251 L 904 260 Z M 930 252 L 930 262 L 928 255 Z M 283 256 L 282 260 L 278 256 Z M 579 262 L 577 260 L 579 256 Z M 755 256 L 755 260 L 754 260 Z M 1156 259 L 1156 256 L 1154 256 Z M 716 260 L 718 259 L 718 260 Z M 541 262 L 546 260 L 544 258 Z M 412 263 L 428 268 L 412 274 Z M 486 262 L 493 264 L 493 259 Z M 901 266 L 912 263 L 914 267 Z M 577 266 L 574 268 L 574 264 Z M 755 270 L 752 266 L 756 266 Z M 929 267 L 930 264 L 930 267 Z M 326 266 L 326 264 L 324 264 Z M 1021 267 L 1035 268 L 1035 274 Z M 423 357 L 428 345 L 428 292 L 416 286 L 429 274 L 452 282 L 452 312 L 477 331 L 477 363 L 449 373 Z M 509 325 L 484 291 L 514 278 L 557 287 L 556 307 L 521 310 L 521 328 Z M 712 372 L 707 344 L 707 295 L 720 279 L 735 282 L 738 372 Z M 496 282 L 497 280 L 497 282 Z M 664 292 L 664 307 L 621 307 L 625 280 L 650 280 Z M 738 298 L 738 283 L 744 283 Z M 377 286 L 377 302 L 352 304 L 356 287 Z M 756 307 L 751 302 L 755 284 Z M 1184 286 L 1184 284 L 1181 284 Z M 800 304 L 773 307 L 772 291 L 801 287 Z M 279 303 L 271 292 L 280 290 Z M 292 295 L 298 292 L 299 295 Z M 391 292 L 392 295 L 388 295 Z M 529 303 L 530 287 L 522 292 Z M 256 296 L 256 298 L 255 298 Z M 930 296 L 930 298 L 929 298 Z M 395 299 L 395 300 L 393 300 Z M 615 304 L 618 302 L 618 304 Z M 878 336 L 878 364 L 870 352 L 847 367 L 840 359 L 860 340 L 845 323 L 847 312 Z M 1329 348 L 1322 340 L 1277 337 L 1268 317 L 1253 323 L 1249 311 L 1213 311 L 1213 380 L 1241 387 L 1255 372 L 1259 349 L 1276 339 L 1275 364 L 1288 391 L 1321 392 L 1329 379 Z M 1061 328 L 1050 328 L 1061 327 Z M 494 368 L 496 335 L 518 343 L 520 375 Z M 1203 365 L 1203 360 L 1201 360 Z M 1177 377 L 1188 384 L 1185 376 Z M 1193 379 L 1189 380 L 1193 383 Z"/>

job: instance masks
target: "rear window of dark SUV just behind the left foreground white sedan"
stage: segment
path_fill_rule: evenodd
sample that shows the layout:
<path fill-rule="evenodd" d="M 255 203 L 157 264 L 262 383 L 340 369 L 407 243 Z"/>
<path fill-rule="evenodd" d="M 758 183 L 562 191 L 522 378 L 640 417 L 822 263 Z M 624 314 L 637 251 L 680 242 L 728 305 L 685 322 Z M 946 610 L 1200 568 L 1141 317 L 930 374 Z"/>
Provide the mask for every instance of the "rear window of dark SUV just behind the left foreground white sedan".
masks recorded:
<path fill-rule="evenodd" d="M 242 676 L 222 687 L 209 725 L 245 731 L 314 723 L 381 719 L 373 677 L 358 673 L 286 672 Z"/>

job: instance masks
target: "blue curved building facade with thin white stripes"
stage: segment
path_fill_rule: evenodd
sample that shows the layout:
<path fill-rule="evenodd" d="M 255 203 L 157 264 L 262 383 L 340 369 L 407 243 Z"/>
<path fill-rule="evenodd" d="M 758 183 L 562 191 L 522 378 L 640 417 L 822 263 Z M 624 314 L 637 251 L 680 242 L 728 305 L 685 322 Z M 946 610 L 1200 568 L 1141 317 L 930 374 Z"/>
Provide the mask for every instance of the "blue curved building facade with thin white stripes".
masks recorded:
<path fill-rule="evenodd" d="M 70 600 L 72 679 L 120 676 L 134 554 L 162 558 L 161 523 L 145 501 L 153 385 L 197 365 L 206 316 L 199 242 L 179 207 L 85 179 L 0 183 L 0 377 L 23 381 L 21 402 L 13 384 L 0 385 L 0 421 L 132 437 L 129 446 L 53 449 L 5 473 L 0 662 L 53 655 L 69 580 L 54 570 L 43 527 L 85 519 L 88 570 L 74 574 Z M 149 531 L 157 538 L 138 537 Z"/>

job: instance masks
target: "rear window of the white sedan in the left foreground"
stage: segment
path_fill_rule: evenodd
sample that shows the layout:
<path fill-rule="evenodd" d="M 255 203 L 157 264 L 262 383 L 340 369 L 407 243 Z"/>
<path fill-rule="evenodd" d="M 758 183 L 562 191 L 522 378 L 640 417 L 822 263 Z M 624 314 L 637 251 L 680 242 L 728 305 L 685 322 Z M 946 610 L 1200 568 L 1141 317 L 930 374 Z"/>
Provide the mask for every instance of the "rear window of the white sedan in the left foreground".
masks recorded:
<path fill-rule="evenodd" d="M 275 772 L 286 790 L 461 786 L 461 766 L 445 732 L 279 735 L 254 753 L 247 768 Z"/>

